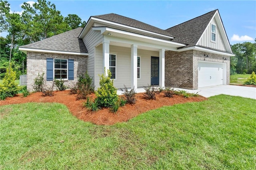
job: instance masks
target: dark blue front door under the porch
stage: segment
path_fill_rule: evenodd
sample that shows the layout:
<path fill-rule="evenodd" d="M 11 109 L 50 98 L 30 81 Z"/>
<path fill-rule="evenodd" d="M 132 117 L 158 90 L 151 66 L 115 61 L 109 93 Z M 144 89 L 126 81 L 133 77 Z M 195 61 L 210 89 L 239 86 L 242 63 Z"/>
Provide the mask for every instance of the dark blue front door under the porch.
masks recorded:
<path fill-rule="evenodd" d="M 151 57 L 151 85 L 159 85 L 159 57 Z"/>

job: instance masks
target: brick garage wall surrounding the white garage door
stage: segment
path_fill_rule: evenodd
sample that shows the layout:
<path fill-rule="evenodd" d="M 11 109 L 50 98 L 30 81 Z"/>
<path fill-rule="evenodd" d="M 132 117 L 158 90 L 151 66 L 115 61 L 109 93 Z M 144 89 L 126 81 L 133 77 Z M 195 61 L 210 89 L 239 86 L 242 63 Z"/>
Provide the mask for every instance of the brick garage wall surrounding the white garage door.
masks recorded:
<path fill-rule="evenodd" d="M 197 50 L 166 51 L 165 86 L 198 89 L 198 61 L 227 63 L 227 84 L 230 83 L 230 57 Z"/>

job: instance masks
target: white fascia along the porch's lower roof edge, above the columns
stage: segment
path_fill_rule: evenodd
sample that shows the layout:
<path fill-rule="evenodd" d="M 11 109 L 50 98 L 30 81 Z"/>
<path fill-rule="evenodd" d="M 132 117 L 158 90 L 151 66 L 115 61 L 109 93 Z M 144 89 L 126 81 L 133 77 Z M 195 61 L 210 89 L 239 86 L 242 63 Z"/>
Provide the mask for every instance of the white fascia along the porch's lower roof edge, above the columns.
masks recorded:
<path fill-rule="evenodd" d="M 101 34 L 104 34 L 105 32 L 115 32 L 115 33 L 125 34 L 125 35 L 128 35 L 128 36 L 135 36 L 135 37 L 138 37 L 138 38 L 146 38 L 148 40 L 154 40 L 154 41 L 157 41 L 157 42 L 164 42 L 164 43 L 169 43 L 169 44 L 173 44 L 173 45 L 178 45 L 180 47 L 185 47 L 186 46 L 183 43 L 171 42 L 171 41 L 168 41 L 168 40 L 162 40 L 162 39 L 159 39 L 159 38 L 144 36 L 144 35 L 141 35 L 141 34 L 136 34 L 136 33 L 127 32 L 127 31 L 123 31 L 123 30 L 117 30 L 117 29 L 114 29 L 114 28 L 93 27 L 92 30 L 100 31 Z"/>

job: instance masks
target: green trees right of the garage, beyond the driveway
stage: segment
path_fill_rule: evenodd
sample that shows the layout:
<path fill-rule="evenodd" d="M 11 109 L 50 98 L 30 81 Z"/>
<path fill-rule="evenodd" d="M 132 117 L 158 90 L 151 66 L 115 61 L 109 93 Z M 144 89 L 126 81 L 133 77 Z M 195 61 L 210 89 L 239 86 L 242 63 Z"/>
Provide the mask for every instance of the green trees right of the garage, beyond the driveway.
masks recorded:
<path fill-rule="evenodd" d="M 231 45 L 234 57 L 230 57 L 230 74 L 251 74 L 256 72 L 256 38 L 255 43 L 244 42 Z"/>

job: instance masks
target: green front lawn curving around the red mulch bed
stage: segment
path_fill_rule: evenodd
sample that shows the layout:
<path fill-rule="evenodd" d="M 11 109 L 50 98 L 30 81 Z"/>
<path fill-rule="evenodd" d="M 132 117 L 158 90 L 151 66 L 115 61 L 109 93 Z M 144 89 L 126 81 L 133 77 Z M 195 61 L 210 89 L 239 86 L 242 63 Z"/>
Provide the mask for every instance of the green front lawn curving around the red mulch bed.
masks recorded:
<path fill-rule="evenodd" d="M 0 169 L 256 169 L 256 100 L 218 95 L 98 126 L 58 103 L 0 107 Z"/>

